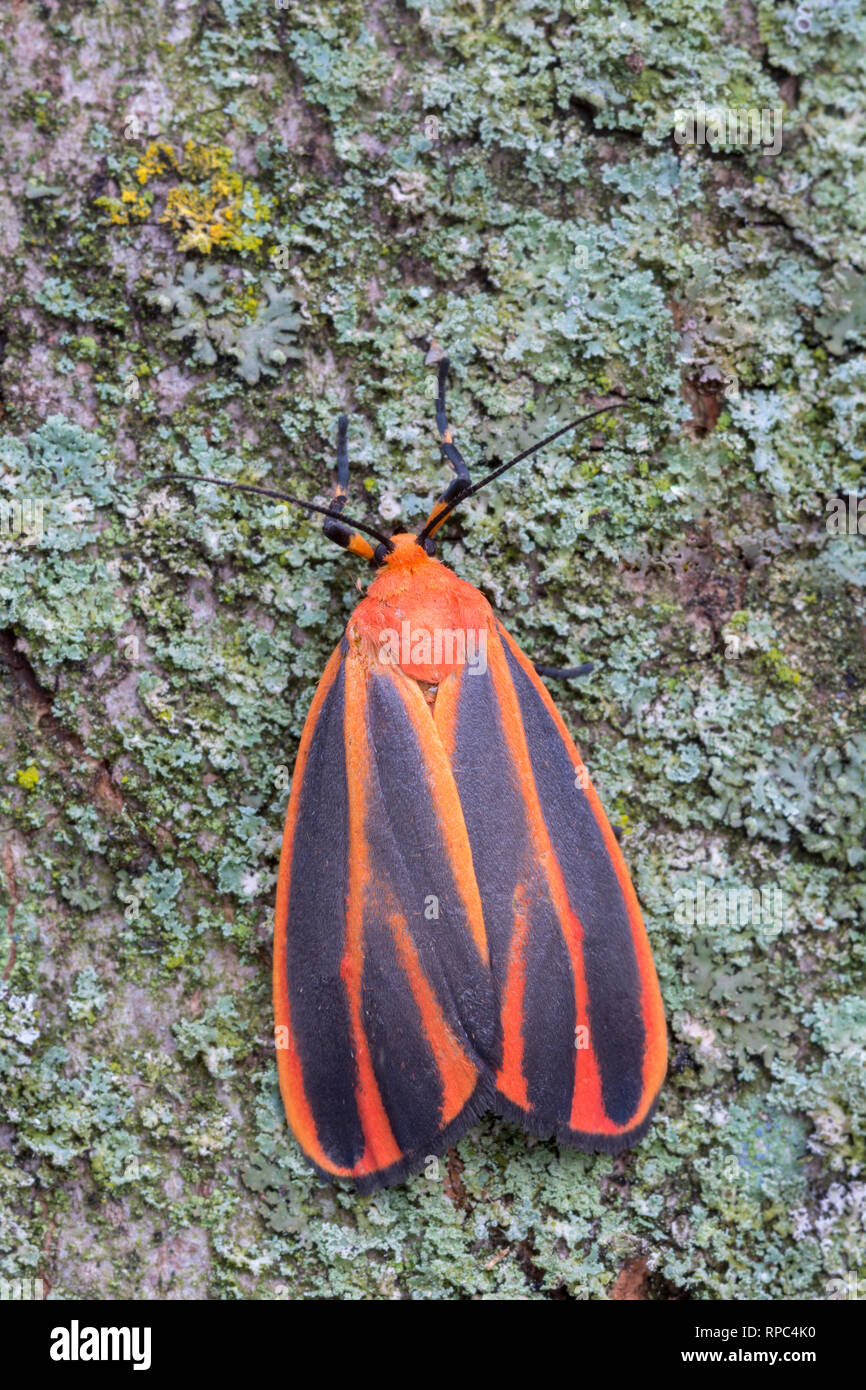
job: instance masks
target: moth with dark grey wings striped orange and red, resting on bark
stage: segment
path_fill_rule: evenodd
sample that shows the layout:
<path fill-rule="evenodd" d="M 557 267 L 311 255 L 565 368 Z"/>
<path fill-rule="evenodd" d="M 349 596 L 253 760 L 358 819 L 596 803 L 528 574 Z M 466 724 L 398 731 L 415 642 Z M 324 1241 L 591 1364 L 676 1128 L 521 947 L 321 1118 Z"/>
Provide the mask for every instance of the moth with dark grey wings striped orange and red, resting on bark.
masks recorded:
<path fill-rule="evenodd" d="M 400 1182 L 488 1109 L 616 1152 L 645 1134 L 666 1069 L 637 897 L 545 669 L 432 539 L 459 502 L 613 406 L 473 485 L 446 377 L 443 357 L 455 478 L 417 535 L 343 517 L 345 416 L 334 500 L 284 498 L 377 569 L 300 739 L 274 938 L 289 1125 L 320 1173 L 359 1190 Z"/>

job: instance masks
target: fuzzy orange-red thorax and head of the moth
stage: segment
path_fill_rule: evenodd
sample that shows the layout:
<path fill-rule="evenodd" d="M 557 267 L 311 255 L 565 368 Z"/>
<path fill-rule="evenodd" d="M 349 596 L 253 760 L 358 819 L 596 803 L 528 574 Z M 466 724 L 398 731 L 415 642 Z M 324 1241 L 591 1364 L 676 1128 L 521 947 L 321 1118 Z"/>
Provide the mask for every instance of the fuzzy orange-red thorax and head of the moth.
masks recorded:
<path fill-rule="evenodd" d="M 492 626 L 484 595 L 413 535 L 392 541 L 395 549 L 349 619 L 349 641 L 370 664 L 396 664 L 432 685 L 457 666 L 478 666 Z"/>

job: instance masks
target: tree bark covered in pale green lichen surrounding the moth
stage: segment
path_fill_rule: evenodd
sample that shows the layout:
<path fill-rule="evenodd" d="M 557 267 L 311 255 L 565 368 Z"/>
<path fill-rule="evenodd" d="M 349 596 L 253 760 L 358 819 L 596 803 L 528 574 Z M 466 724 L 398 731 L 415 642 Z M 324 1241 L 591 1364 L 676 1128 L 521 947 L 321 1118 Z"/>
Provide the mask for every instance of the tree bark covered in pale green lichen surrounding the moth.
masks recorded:
<path fill-rule="evenodd" d="M 851 1291 L 866 537 L 827 505 L 866 449 L 856 0 L 50 0 L 1 25 L 0 1277 Z M 784 147 L 678 143 L 698 101 L 778 108 Z M 559 698 L 673 1062 L 631 1154 L 489 1118 L 359 1198 L 286 1133 L 268 988 L 289 771 L 357 566 L 300 514 L 147 480 L 316 496 L 348 409 L 356 513 L 417 524 L 431 336 L 470 460 L 632 398 L 443 552 L 538 660 L 595 663 Z"/>

